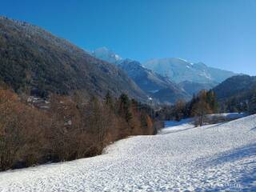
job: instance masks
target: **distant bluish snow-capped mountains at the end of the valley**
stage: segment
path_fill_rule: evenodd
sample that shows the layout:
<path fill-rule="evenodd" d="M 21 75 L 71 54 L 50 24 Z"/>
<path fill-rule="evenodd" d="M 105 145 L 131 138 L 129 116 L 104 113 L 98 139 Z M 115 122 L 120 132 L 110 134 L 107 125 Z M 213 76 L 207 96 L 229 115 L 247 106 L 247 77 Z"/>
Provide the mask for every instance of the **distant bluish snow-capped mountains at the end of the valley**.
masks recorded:
<path fill-rule="evenodd" d="M 181 58 L 153 59 L 140 63 L 132 59 L 122 59 L 106 47 L 94 50 L 91 54 L 126 71 L 146 94 L 158 102 L 189 100 L 198 91 L 210 90 L 235 75 L 231 71 L 208 67 L 202 62 L 186 62 Z"/>

